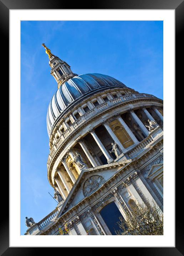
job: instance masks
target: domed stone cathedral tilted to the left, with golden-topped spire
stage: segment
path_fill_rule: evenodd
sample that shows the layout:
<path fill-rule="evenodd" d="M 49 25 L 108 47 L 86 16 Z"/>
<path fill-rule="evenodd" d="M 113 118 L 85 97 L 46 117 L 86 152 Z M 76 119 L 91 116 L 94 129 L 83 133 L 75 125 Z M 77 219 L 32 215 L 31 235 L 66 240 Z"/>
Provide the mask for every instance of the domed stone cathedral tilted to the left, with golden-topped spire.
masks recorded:
<path fill-rule="evenodd" d="M 38 223 L 26 217 L 25 235 L 116 235 L 136 202 L 163 212 L 163 100 L 108 75 L 77 75 L 42 46 L 58 86 L 47 112 L 58 205 Z"/>

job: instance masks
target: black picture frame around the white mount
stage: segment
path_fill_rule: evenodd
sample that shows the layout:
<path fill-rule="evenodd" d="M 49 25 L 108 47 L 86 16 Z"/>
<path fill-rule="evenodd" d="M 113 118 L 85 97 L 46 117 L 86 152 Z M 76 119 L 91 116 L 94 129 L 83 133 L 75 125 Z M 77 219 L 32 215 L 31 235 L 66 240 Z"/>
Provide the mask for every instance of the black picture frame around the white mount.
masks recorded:
<path fill-rule="evenodd" d="M 72 8 L 71 8 L 72 6 Z M 9 67 L 9 10 L 10 9 L 173 9 L 175 10 L 175 75 L 176 75 L 176 84 L 182 82 L 181 78 L 183 74 L 183 45 L 184 40 L 182 39 L 182 32 L 184 30 L 184 1 L 183 0 L 103 0 L 103 1 L 90 1 L 86 3 L 79 3 L 78 1 L 64 2 L 61 0 L 1 0 L 0 1 L 0 29 L 1 29 L 1 61 L 3 60 L 3 69 L 4 72 L 8 73 L 8 69 L 4 67 Z M 1 62 L 2 63 L 2 62 Z M 6 78 L 9 77 L 9 74 L 6 74 Z M 1 88 L 6 90 L 4 95 L 8 95 L 8 81 L 6 80 L 6 85 L 3 85 Z M 182 82 L 183 83 L 183 82 Z M 2 90 L 1 90 L 2 93 Z M 2 95 L 3 95 L 2 94 Z M 178 102 L 175 105 L 175 110 L 179 109 Z M 178 111 L 175 112 L 176 120 Z M 6 120 L 5 129 L 8 129 L 9 120 Z M 2 136 L 5 137 L 5 136 Z M 176 139 L 177 141 L 177 139 Z M 7 138 L 2 138 L 2 145 L 7 145 Z M 8 152 L 8 151 L 7 151 Z M 6 154 L 7 155 L 7 154 Z M 178 155 L 177 155 L 178 156 Z M 175 156 L 173 156 L 175 157 Z M 179 156 L 178 156 L 179 158 Z M 179 158 L 180 159 L 180 158 Z M 8 160 L 7 160 L 8 162 Z M 180 169 L 180 173 L 176 175 L 176 185 L 175 185 L 175 203 L 176 203 L 176 212 L 175 212 L 175 247 L 125 247 L 123 248 L 122 253 L 135 253 L 137 255 L 167 255 L 167 256 L 180 256 L 184 255 L 184 246 L 183 246 L 183 213 L 180 212 L 181 204 L 181 192 L 182 188 L 182 175 L 183 168 Z M 177 174 L 177 172 L 176 172 Z M 8 176 L 8 174 L 6 174 Z M 7 184 L 6 184 L 7 186 Z M 7 189 L 6 189 L 7 190 Z M 4 190 L 1 191 L 1 195 L 5 195 Z M 35 253 L 43 253 L 43 248 L 38 247 L 9 247 L 9 203 L 6 196 L 1 196 L 1 206 L 3 209 L 6 209 L 6 214 L 4 212 L 1 217 L 0 225 L 0 255 L 33 255 Z M 16 221 L 16 220 L 15 220 Z M 125 252 L 125 250 L 127 252 Z M 49 253 L 50 249 L 47 248 Z M 128 253 L 129 253 L 128 252 Z M 51 252 L 52 253 L 52 252 Z"/>

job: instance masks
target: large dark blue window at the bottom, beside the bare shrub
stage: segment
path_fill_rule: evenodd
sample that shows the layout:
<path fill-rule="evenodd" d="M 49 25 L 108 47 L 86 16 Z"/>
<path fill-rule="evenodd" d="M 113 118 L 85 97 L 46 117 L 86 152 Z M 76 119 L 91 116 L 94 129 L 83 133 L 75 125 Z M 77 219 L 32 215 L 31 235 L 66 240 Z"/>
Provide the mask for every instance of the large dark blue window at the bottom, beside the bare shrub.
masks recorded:
<path fill-rule="evenodd" d="M 111 202 L 107 206 L 103 207 L 103 209 L 100 211 L 100 215 L 102 216 L 104 222 L 106 223 L 108 229 L 111 231 L 112 235 L 116 235 L 116 231 L 120 230 L 119 225 L 117 223 L 120 221 L 119 217 L 121 217 L 124 220 L 121 212 L 116 206 L 116 203 Z"/>

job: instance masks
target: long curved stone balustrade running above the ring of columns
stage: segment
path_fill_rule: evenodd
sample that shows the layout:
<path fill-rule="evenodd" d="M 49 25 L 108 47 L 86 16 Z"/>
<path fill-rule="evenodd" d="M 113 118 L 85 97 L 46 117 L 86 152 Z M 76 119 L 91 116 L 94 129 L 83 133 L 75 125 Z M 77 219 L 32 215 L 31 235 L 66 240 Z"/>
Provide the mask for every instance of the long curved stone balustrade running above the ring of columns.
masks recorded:
<path fill-rule="evenodd" d="M 108 102 L 102 103 L 101 105 L 98 105 L 97 107 L 89 110 L 86 114 L 82 115 L 74 123 L 72 123 L 72 125 L 68 129 L 66 129 L 65 132 L 63 132 L 61 137 L 58 138 L 58 140 L 56 141 L 55 145 L 53 146 L 53 148 L 51 149 L 51 152 L 49 154 L 50 157 L 48 157 L 47 166 L 50 164 L 51 158 L 53 157 L 54 153 L 56 152 L 56 149 L 82 123 L 85 123 L 91 117 L 95 116 L 96 114 L 98 114 L 98 113 L 102 112 L 103 110 L 110 108 L 114 105 L 121 104 L 122 102 L 125 102 L 127 100 L 132 100 L 132 99 L 136 99 L 136 98 L 147 98 L 147 97 L 156 98 L 155 96 L 153 96 L 151 94 L 146 94 L 146 93 L 128 94 L 128 95 L 123 95 L 123 96 L 115 98 L 115 99 L 111 99 Z"/>

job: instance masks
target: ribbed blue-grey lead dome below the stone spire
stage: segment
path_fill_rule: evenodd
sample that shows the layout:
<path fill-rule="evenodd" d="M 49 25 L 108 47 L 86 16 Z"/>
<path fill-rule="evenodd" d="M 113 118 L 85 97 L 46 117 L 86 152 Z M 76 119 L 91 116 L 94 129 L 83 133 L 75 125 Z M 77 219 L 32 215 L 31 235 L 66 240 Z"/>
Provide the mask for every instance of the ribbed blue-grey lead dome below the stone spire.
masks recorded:
<path fill-rule="evenodd" d="M 126 87 L 122 82 L 113 77 L 102 74 L 78 75 L 63 83 L 53 95 L 47 111 L 47 132 L 50 136 L 51 129 L 66 110 L 85 95 L 93 94 L 107 87 Z"/>

